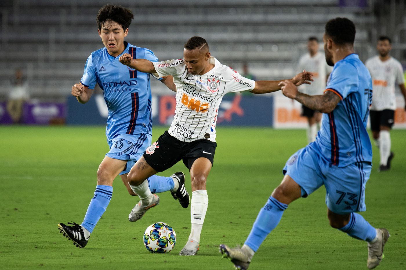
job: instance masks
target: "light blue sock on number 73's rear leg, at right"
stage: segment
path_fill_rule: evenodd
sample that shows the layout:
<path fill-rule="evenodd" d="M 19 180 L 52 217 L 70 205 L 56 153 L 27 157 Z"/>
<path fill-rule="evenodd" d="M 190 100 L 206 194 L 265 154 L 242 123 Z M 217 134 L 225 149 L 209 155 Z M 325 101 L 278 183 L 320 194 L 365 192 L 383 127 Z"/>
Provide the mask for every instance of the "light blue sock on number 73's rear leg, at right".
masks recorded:
<path fill-rule="evenodd" d="M 357 213 L 351 213 L 348 224 L 339 230 L 347 233 L 352 238 L 367 242 L 371 242 L 376 237 L 376 229 Z"/>

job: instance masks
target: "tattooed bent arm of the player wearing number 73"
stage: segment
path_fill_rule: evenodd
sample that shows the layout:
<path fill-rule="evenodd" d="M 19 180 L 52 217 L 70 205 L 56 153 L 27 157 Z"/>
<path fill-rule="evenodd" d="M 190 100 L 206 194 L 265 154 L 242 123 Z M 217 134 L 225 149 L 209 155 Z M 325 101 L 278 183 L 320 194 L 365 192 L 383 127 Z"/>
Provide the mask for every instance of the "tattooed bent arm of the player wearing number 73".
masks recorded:
<path fill-rule="evenodd" d="M 290 81 L 281 81 L 280 83 L 282 93 L 290 99 L 296 99 L 304 106 L 313 109 L 315 111 L 321 111 L 323 113 L 330 113 L 335 106 L 341 101 L 339 95 L 332 91 L 326 91 L 322 95 L 309 96 L 298 92 L 298 89 Z"/>

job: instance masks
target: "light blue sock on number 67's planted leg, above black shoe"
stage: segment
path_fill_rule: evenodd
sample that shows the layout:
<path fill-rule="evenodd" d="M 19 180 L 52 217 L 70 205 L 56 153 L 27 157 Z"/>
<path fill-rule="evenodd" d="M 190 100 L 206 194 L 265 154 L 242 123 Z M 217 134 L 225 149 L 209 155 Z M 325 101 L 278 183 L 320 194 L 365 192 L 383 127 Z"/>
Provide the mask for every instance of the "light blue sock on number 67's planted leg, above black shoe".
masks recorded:
<path fill-rule="evenodd" d="M 111 200 L 113 194 L 112 186 L 97 185 L 96 191 L 93 198 L 90 201 L 89 207 L 87 208 L 86 215 L 84 216 L 83 223 L 80 224 L 86 228 L 90 233 L 92 233 L 95 228 L 97 221 L 106 211 L 108 203 Z"/>

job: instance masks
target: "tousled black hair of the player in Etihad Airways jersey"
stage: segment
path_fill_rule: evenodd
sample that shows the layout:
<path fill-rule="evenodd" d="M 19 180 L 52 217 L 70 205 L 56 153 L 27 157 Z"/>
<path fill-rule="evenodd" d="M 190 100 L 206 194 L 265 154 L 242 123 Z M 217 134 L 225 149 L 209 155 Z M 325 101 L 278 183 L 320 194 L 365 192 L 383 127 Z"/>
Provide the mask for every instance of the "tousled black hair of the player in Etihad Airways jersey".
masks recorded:
<path fill-rule="evenodd" d="M 111 23 L 111 21 L 115 21 L 117 24 L 121 25 L 125 31 L 125 29 L 130 26 L 132 19 L 134 19 L 134 15 L 129 9 L 111 4 L 102 6 L 96 17 L 97 27 L 99 30 L 102 29 L 106 22 Z"/>

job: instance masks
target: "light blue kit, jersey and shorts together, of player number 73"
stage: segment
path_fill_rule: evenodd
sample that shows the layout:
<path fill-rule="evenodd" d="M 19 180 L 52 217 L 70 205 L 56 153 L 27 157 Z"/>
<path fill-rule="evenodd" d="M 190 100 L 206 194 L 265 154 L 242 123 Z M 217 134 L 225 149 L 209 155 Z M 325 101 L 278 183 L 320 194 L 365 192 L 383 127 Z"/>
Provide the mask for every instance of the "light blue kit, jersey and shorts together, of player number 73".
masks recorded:
<path fill-rule="evenodd" d="M 324 185 L 327 207 L 337 214 L 366 210 L 365 184 L 372 167 L 366 129 L 371 89 L 371 76 L 358 55 L 338 61 L 326 91 L 333 91 L 341 101 L 331 113 L 323 114 L 316 141 L 294 153 L 283 168 L 302 188 L 302 197 Z"/>

